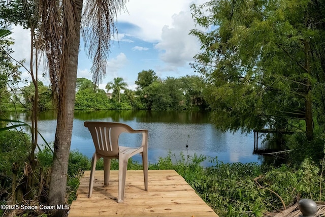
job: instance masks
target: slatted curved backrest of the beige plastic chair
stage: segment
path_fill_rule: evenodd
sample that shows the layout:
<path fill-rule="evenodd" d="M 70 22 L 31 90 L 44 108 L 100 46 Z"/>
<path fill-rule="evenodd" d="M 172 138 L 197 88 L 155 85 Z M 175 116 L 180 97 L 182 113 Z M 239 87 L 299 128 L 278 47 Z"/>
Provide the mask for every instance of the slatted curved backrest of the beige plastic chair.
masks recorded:
<path fill-rule="evenodd" d="M 118 138 L 131 127 L 124 123 L 85 121 L 84 126 L 90 131 L 96 152 L 102 156 L 118 156 Z"/>

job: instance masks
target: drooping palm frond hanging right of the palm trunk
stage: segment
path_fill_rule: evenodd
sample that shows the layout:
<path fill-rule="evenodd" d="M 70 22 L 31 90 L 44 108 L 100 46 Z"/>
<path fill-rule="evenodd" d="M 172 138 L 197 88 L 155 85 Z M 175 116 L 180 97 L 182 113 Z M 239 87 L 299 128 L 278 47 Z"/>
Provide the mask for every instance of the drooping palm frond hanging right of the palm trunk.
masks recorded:
<path fill-rule="evenodd" d="M 87 55 L 92 58 L 92 81 L 99 84 L 106 75 L 106 60 L 117 34 L 117 11 L 125 10 L 125 0 L 86 1 L 82 15 L 82 36 Z"/>

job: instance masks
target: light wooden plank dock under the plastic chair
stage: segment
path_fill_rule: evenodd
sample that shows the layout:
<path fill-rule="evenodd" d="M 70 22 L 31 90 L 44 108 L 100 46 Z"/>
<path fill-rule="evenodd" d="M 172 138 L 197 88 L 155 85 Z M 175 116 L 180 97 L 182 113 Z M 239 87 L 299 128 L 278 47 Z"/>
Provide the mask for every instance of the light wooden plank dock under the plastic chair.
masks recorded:
<path fill-rule="evenodd" d="M 90 171 L 85 171 L 69 217 L 218 217 L 175 170 L 149 170 L 147 192 L 144 191 L 143 171 L 128 170 L 123 203 L 117 203 L 118 171 L 111 171 L 107 186 L 104 186 L 104 172 L 96 171 L 91 198 L 87 197 L 89 176 Z"/>

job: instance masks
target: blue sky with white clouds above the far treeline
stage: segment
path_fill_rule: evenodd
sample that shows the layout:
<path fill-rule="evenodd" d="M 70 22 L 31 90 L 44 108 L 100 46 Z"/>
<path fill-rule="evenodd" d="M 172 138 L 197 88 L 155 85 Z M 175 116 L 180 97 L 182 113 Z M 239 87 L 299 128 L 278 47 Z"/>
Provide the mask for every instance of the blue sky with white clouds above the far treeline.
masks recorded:
<path fill-rule="evenodd" d="M 193 56 L 200 52 L 200 43 L 196 37 L 189 35 L 189 31 L 200 27 L 192 19 L 190 5 L 201 5 L 207 1 L 127 1 L 127 11 L 117 14 L 118 35 L 110 48 L 106 76 L 99 88 L 105 89 L 108 82 L 121 77 L 128 88 L 134 90 L 138 73 L 142 70 L 151 69 L 163 79 L 196 75 L 189 63 L 193 63 Z M 12 32 L 10 37 L 15 40 L 12 56 L 17 60 L 26 59 L 26 66 L 29 66 L 30 33 L 21 26 L 13 27 Z M 92 60 L 86 56 L 81 41 L 77 77 L 91 80 L 91 66 Z M 29 82 L 30 75 L 23 69 L 21 71 L 22 80 Z M 39 79 L 48 85 L 48 75 L 42 77 L 43 73 L 41 67 Z"/>

